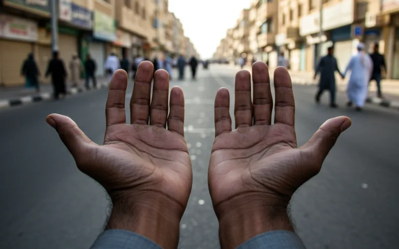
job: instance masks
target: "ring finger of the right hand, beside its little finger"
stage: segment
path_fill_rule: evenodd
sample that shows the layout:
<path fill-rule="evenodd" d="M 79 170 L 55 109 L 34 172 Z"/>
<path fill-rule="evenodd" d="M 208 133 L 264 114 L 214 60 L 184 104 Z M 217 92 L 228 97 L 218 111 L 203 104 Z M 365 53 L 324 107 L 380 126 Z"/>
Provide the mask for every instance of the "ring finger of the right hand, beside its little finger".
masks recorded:
<path fill-rule="evenodd" d="M 252 125 L 251 74 L 241 70 L 235 75 L 235 128 Z"/>

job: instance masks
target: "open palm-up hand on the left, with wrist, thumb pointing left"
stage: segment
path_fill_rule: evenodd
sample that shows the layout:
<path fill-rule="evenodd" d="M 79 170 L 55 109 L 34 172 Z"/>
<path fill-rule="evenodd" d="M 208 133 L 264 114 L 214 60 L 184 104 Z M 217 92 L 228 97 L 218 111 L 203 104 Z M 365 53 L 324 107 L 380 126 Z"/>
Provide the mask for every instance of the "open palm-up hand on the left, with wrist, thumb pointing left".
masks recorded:
<path fill-rule="evenodd" d="M 126 124 L 128 76 L 117 70 L 106 104 L 104 145 L 91 141 L 68 117 L 51 114 L 53 126 L 77 167 L 108 192 L 113 210 L 107 229 L 141 234 L 163 248 L 177 248 L 180 220 L 192 186 L 189 150 L 184 138 L 184 96 L 171 90 L 169 75 L 155 73 L 152 101 L 151 62 L 139 65 Z M 168 124 L 168 129 L 166 126 Z"/>

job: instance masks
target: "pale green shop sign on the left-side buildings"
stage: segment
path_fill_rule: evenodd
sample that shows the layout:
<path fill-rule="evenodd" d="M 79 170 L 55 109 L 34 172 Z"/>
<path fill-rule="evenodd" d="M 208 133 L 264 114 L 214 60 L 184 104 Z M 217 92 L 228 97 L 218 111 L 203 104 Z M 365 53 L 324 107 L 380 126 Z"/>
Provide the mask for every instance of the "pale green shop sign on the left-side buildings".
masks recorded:
<path fill-rule="evenodd" d="M 117 36 L 114 19 L 96 10 L 94 12 L 93 36 L 97 39 L 115 41 Z"/>

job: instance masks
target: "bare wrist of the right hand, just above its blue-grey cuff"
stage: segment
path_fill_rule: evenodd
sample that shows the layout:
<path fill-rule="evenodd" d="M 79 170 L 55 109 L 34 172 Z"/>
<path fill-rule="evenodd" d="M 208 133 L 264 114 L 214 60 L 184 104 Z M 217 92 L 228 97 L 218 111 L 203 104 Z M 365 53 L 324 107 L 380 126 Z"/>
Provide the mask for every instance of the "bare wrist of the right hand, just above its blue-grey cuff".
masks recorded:
<path fill-rule="evenodd" d="M 221 248 L 236 248 L 270 231 L 294 232 L 287 204 L 283 200 L 271 200 L 267 195 L 251 193 L 217 205 L 215 212 L 219 220 Z"/>

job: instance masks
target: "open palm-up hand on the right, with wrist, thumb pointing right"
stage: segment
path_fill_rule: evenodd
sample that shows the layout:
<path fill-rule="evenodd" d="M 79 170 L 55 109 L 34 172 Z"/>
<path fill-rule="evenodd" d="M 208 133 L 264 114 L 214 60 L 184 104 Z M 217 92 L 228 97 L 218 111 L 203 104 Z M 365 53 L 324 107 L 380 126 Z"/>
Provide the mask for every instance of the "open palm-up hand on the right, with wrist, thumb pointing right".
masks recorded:
<path fill-rule="evenodd" d="M 229 93 L 215 98 L 215 140 L 208 185 L 222 248 L 235 248 L 268 231 L 293 231 L 287 206 L 293 193 L 315 176 L 341 132 L 351 121 L 338 117 L 325 122 L 310 140 L 297 147 L 295 104 L 288 71 L 274 72 L 275 115 L 268 68 L 252 66 L 251 78 L 241 70 L 235 78 L 235 130 L 231 130 Z"/>

